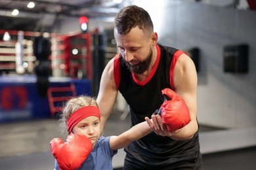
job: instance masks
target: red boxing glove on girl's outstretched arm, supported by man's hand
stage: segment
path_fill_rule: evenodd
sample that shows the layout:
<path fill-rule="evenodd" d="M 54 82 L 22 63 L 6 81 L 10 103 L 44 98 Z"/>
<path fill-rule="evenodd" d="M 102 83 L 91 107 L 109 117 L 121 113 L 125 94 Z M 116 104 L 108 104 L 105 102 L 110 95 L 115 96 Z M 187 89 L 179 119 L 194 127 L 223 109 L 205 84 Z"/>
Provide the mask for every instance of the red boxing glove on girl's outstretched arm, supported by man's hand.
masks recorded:
<path fill-rule="evenodd" d="M 186 126 L 191 118 L 185 101 L 169 88 L 163 89 L 161 93 L 171 98 L 161 105 L 161 118 L 168 131 L 175 131 Z"/>

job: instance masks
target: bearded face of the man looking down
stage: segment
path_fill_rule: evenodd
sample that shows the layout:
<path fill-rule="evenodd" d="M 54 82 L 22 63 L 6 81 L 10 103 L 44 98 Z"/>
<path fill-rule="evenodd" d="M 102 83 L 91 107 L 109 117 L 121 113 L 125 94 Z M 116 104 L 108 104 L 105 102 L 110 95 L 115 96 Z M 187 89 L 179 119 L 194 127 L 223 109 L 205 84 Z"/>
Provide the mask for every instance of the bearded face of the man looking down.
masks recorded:
<path fill-rule="evenodd" d="M 144 73 L 152 60 L 150 37 L 146 37 L 139 27 L 131 29 L 126 35 L 119 35 L 115 29 L 114 35 L 125 65 L 135 74 Z"/>

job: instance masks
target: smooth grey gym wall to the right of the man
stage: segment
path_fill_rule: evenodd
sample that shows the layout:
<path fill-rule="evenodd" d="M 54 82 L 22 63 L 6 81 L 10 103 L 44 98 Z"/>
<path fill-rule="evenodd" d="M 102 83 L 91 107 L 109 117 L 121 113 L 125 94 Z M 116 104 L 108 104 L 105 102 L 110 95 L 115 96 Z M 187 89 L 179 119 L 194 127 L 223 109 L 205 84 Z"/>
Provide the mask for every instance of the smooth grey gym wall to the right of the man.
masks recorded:
<path fill-rule="evenodd" d="M 152 16 L 161 44 L 182 50 L 200 48 L 200 124 L 255 126 L 256 11 L 166 0 L 158 4 L 139 1 L 137 5 Z M 249 44 L 249 73 L 224 73 L 223 47 L 238 43 Z"/>

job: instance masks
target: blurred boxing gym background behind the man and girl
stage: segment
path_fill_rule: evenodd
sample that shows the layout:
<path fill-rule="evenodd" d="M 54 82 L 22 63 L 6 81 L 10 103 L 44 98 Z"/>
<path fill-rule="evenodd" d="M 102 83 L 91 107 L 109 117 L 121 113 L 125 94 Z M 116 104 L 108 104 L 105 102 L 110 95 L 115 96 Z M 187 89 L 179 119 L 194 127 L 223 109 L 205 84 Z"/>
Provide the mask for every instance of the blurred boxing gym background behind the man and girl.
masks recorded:
<path fill-rule="evenodd" d="M 148 11 L 159 43 L 184 50 L 198 71 L 198 122 L 205 169 L 256 167 L 255 0 L 0 1 L 0 169 L 54 169 L 49 141 L 62 102 L 98 93 L 118 52 L 114 17 Z M 121 95 L 105 135 L 130 126 Z M 125 152 L 114 156 L 121 169 Z"/>

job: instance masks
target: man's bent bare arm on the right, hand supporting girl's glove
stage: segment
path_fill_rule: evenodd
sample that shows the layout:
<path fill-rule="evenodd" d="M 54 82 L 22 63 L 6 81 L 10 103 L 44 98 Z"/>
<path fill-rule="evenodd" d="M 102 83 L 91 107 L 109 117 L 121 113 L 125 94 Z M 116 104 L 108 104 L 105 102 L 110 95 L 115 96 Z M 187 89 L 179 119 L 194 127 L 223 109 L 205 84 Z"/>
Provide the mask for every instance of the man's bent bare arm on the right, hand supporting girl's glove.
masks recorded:
<path fill-rule="evenodd" d="M 191 139 L 196 131 L 198 131 L 198 122 L 196 120 L 197 115 L 197 83 L 198 78 L 196 74 L 196 67 L 191 58 L 186 54 L 182 54 L 175 65 L 173 73 L 173 85 L 175 92 L 184 99 L 188 110 L 190 112 L 191 121 L 186 126 L 178 129 L 177 131 L 169 132 L 166 126 L 163 124 L 161 116 L 153 115 L 152 124 L 146 118 L 146 121 L 150 127 L 158 134 L 163 136 L 169 136 L 175 140 Z"/>

